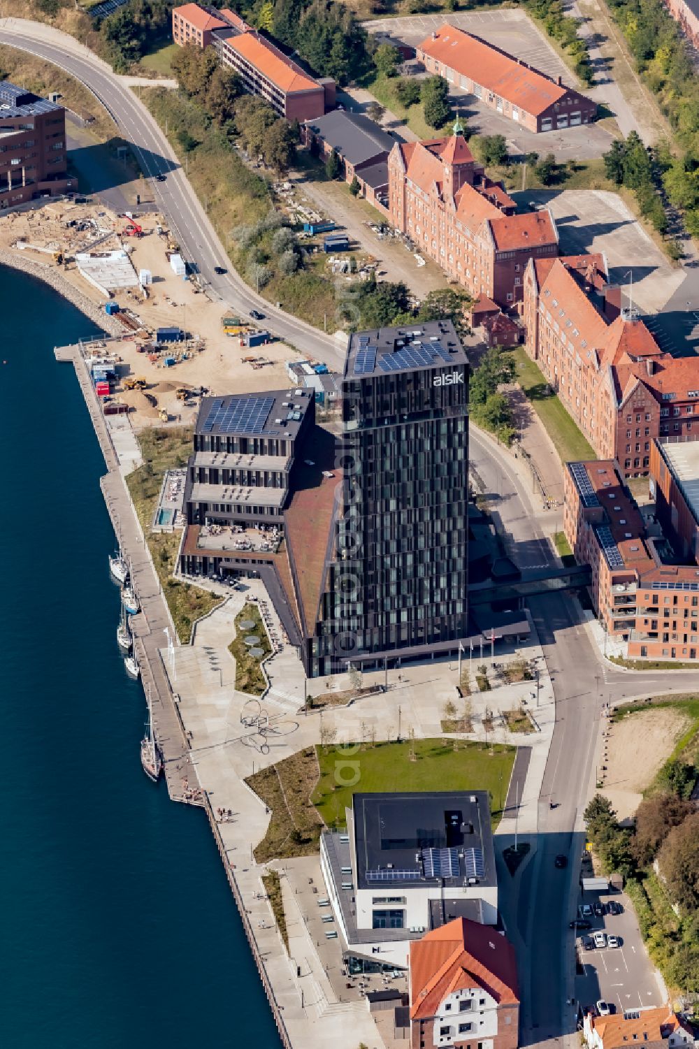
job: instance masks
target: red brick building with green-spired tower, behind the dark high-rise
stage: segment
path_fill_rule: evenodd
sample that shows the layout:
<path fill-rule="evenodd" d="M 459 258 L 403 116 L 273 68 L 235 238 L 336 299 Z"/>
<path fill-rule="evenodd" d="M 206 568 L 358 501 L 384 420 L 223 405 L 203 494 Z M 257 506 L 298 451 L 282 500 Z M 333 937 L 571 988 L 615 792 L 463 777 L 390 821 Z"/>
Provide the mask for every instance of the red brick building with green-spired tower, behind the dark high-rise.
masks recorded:
<path fill-rule="evenodd" d="M 551 213 L 515 215 L 514 200 L 485 176 L 458 124 L 450 137 L 396 143 L 388 210 L 393 224 L 473 298 L 504 307 L 522 299 L 531 258 L 558 254 Z"/>

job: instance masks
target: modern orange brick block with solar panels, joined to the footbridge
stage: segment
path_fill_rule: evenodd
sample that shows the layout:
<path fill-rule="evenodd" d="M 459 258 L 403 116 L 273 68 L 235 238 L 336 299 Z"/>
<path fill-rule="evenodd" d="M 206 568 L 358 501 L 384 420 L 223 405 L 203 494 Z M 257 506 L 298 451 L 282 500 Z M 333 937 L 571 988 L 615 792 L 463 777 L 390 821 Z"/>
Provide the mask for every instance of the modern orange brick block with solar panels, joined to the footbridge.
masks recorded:
<path fill-rule="evenodd" d="M 592 601 L 606 630 L 627 642 L 631 659 L 696 660 L 699 569 L 662 560 L 618 464 L 569 463 L 564 493 L 566 538 L 592 570 Z"/>

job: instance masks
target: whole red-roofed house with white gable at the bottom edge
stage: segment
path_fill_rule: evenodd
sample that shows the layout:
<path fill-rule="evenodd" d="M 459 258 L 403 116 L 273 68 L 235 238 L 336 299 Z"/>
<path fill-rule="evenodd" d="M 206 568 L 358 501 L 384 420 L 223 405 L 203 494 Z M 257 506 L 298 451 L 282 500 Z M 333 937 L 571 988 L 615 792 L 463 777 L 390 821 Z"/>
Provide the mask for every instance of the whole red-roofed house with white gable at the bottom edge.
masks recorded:
<path fill-rule="evenodd" d="M 492 927 L 457 918 L 410 944 L 410 1045 L 516 1049 L 514 948 Z"/>

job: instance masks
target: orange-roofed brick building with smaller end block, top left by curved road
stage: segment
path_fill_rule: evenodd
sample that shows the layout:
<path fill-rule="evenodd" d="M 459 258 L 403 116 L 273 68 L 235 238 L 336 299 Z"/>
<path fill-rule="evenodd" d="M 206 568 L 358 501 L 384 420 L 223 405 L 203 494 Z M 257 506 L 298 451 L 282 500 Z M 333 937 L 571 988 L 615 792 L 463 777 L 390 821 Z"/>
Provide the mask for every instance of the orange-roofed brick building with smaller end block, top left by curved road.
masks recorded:
<path fill-rule="evenodd" d="M 314 80 L 228 8 L 213 14 L 196 3 L 174 7 L 172 39 L 181 46 L 215 47 L 224 65 L 238 74 L 243 89 L 264 99 L 288 121 L 315 120 L 335 107 L 334 80 Z"/>

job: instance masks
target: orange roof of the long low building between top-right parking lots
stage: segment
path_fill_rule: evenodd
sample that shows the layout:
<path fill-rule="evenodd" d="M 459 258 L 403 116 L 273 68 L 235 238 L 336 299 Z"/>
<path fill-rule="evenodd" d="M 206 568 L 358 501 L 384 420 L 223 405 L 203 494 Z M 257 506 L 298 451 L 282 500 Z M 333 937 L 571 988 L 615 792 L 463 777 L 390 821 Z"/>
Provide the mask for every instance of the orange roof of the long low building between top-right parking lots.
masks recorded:
<path fill-rule="evenodd" d="M 543 113 L 566 93 L 577 94 L 571 88 L 554 83 L 537 69 L 532 69 L 453 25 L 443 25 L 435 37 L 423 40 L 418 45 L 418 52 L 420 51 L 448 69 L 454 69 L 461 76 L 474 80 L 476 84 L 515 106 L 521 106 L 534 116 Z"/>

